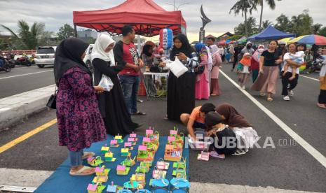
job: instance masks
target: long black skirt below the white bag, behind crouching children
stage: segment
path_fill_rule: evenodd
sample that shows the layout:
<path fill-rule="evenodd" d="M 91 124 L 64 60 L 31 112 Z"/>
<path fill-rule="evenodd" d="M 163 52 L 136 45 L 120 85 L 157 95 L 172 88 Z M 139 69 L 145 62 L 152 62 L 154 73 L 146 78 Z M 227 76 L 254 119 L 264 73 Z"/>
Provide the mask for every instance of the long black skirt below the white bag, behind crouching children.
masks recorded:
<path fill-rule="evenodd" d="M 180 120 L 182 113 L 195 108 L 195 73 L 184 73 L 177 78 L 172 72 L 168 79 L 168 119 Z"/>

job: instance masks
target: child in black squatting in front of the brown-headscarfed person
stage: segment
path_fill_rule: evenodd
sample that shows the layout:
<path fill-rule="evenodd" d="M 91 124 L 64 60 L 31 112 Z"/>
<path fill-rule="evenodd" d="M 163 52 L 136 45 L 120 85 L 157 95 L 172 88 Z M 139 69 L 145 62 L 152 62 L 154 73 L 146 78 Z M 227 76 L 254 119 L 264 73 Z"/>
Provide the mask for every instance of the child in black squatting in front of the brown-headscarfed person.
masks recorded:
<path fill-rule="evenodd" d="M 210 145 L 210 156 L 225 158 L 225 155 L 233 155 L 237 150 L 236 134 L 223 124 L 224 117 L 216 112 L 209 112 L 205 115 L 205 124 L 208 128 L 206 136 L 214 138 Z M 217 147 L 218 145 L 218 147 Z"/>

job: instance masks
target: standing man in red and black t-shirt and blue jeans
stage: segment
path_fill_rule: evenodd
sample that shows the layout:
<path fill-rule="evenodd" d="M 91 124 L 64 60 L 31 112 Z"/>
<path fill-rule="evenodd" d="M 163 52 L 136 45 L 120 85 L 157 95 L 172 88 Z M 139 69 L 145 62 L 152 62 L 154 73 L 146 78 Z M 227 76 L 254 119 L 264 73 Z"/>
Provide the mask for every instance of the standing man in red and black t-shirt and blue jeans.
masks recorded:
<path fill-rule="evenodd" d="M 118 41 L 114 46 L 114 58 L 118 65 L 123 66 L 123 70 L 119 72 L 119 79 L 125 104 L 130 115 L 146 115 L 137 110 L 140 69 L 144 66 L 144 62 L 140 59 L 133 43 L 135 30 L 131 26 L 124 26 L 121 33 L 123 40 Z"/>

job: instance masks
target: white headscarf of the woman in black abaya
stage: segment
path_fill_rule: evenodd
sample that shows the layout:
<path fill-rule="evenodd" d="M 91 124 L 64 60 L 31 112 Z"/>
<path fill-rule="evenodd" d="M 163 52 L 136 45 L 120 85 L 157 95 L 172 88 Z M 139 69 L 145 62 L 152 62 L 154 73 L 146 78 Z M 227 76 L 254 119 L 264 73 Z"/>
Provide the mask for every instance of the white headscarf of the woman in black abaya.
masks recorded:
<path fill-rule="evenodd" d="M 97 34 L 97 39 L 95 41 L 95 45 L 92 50 L 92 61 L 95 58 L 102 59 L 106 62 L 110 62 L 110 66 L 116 65 L 116 62 L 114 60 L 114 53 L 113 49 L 111 49 L 109 52 L 105 52 L 104 50 L 107 49 L 109 45 L 114 43 L 116 44 L 116 41 L 114 41 L 109 34 Z"/>

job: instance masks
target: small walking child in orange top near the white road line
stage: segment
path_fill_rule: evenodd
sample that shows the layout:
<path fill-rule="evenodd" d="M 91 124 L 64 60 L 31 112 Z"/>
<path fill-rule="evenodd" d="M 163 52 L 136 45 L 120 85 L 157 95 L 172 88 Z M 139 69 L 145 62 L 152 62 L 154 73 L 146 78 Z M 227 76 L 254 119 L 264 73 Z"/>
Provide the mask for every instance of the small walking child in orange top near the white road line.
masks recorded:
<path fill-rule="evenodd" d="M 238 68 L 238 81 L 240 87 L 244 90 L 245 89 L 245 83 L 247 83 L 247 78 L 250 74 L 249 68 L 251 66 L 251 55 L 249 52 L 246 52 L 245 55 L 243 55 L 243 59 L 240 60 L 240 65 Z"/>

